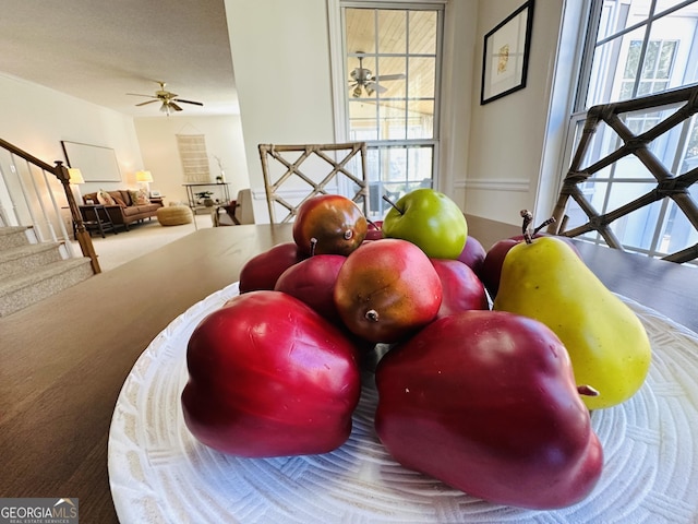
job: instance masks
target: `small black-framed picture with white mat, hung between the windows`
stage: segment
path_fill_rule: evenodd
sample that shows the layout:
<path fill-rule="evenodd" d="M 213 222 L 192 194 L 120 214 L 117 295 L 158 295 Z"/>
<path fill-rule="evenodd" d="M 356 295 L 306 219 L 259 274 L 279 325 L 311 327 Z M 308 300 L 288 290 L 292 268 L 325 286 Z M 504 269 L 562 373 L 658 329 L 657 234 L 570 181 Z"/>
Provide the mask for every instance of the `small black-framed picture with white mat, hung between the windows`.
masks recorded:
<path fill-rule="evenodd" d="M 526 87 L 533 2 L 528 0 L 484 35 L 480 105 Z"/>

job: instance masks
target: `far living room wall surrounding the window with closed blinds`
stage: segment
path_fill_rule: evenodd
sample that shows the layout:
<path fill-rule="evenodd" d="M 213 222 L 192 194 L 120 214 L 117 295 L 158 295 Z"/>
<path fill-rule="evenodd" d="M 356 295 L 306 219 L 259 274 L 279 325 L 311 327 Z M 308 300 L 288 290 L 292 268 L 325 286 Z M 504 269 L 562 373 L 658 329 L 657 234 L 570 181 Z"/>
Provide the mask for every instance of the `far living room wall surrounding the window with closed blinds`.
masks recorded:
<path fill-rule="evenodd" d="M 135 130 L 143 152 L 143 168 L 153 175 L 151 190 L 158 190 L 167 202 L 186 202 L 182 187 L 184 175 L 177 134 L 204 134 L 212 181 L 220 175 L 215 157 L 220 158 L 225 179 L 230 183 L 230 198 L 250 187 L 248 164 L 242 140 L 242 128 L 238 115 L 219 117 L 170 117 L 136 118 Z"/>

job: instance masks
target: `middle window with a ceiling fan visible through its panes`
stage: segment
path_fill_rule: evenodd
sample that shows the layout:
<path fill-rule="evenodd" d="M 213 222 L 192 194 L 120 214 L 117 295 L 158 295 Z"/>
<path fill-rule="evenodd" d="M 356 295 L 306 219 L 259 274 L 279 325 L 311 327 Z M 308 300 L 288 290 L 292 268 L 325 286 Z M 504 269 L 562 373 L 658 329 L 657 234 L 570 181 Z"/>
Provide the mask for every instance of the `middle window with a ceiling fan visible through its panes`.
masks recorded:
<path fill-rule="evenodd" d="M 378 5 L 378 7 L 376 7 Z M 365 141 L 370 217 L 433 187 L 438 147 L 443 4 L 341 2 L 344 116 L 348 141 Z"/>

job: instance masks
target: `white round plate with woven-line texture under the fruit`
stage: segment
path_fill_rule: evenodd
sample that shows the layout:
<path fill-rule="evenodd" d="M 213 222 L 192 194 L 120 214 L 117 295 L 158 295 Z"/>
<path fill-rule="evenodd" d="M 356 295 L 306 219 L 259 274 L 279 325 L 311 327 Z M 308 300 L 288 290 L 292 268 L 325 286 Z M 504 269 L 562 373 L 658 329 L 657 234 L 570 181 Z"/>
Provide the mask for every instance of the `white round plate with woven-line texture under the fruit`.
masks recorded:
<path fill-rule="evenodd" d="M 645 324 L 654 353 L 642 389 L 592 415 L 605 454 L 599 484 L 578 504 L 538 512 L 484 502 L 393 461 L 373 430 L 377 396 L 370 374 L 351 437 L 332 453 L 237 458 L 198 443 L 180 407 L 186 342 L 237 294 L 233 284 L 172 321 L 127 378 L 108 456 L 121 522 L 698 522 L 698 335 L 650 309 L 621 297 Z"/>

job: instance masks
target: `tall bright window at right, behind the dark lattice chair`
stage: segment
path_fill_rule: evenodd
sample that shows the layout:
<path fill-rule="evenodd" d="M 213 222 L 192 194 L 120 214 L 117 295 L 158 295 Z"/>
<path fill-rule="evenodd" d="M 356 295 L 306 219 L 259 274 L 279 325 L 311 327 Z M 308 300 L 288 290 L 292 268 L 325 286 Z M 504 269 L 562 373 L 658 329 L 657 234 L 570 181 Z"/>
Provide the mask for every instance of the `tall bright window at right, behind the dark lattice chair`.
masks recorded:
<path fill-rule="evenodd" d="M 591 106 L 698 82 L 697 0 L 591 0 L 587 35 L 567 151 L 575 151 Z M 675 110 L 665 107 L 637 111 L 624 119 L 638 133 Z M 618 139 L 603 127 L 593 140 L 587 166 L 618 147 Z M 676 176 L 694 169 L 698 166 L 698 119 L 688 119 L 662 134 L 652 142 L 651 150 Z M 594 209 L 605 213 L 650 191 L 654 184 L 655 179 L 645 166 L 625 158 L 589 178 L 582 189 Z M 698 188 L 691 187 L 690 193 L 698 196 Z M 586 222 L 586 214 L 571 201 L 567 215 L 566 229 Z M 671 199 L 615 221 L 612 229 L 625 249 L 651 257 L 663 257 L 698 242 L 698 233 Z M 597 234 L 582 238 L 603 242 Z"/>

